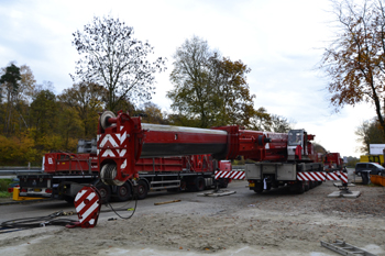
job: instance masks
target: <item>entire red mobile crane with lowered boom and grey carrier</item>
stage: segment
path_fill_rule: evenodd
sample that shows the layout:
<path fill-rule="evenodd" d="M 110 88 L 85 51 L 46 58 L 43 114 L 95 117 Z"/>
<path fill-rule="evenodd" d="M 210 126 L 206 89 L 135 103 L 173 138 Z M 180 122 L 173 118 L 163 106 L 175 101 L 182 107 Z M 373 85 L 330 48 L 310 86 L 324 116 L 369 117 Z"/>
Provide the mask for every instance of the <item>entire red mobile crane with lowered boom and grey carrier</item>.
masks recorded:
<path fill-rule="evenodd" d="M 120 186 L 139 176 L 142 157 L 211 154 L 216 159 L 243 156 L 249 187 L 255 192 L 287 186 L 304 191 L 327 179 L 322 160 L 314 152 L 315 135 L 305 130 L 287 134 L 243 130 L 238 125 L 193 129 L 141 123 L 140 118 L 111 111 L 100 115 L 98 159 L 105 183 Z"/>

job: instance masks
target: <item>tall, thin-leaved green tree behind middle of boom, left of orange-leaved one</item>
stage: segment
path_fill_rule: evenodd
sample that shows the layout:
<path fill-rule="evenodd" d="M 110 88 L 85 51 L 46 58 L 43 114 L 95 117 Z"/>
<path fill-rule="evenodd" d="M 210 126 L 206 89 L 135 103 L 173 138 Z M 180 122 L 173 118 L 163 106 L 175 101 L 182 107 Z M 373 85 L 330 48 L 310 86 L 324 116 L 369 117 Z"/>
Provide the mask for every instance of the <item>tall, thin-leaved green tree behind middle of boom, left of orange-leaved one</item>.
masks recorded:
<path fill-rule="evenodd" d="M 170 81 L 174 89 L 167 92 L 167 98 L 173 100 L 170 107 L 179 115 L 200 120 L 200 123 L 194 126 L 211 125 L 215 100 L 210 98 L 218 91 L 213 91 L 215 88 L 209 82 L 207 67 L 209 58 L 213 55 L 207 41 L 194 36 L 186 40 L 173 56 Z"/>

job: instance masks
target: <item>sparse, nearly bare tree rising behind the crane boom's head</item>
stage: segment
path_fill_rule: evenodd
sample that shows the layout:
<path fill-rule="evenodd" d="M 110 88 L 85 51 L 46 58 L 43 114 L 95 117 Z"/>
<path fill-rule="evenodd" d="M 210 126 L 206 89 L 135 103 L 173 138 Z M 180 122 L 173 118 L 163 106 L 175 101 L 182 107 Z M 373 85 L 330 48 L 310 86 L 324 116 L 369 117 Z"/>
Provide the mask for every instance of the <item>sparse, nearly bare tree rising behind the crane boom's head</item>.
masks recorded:
<path fill-rule="evenodd" d="M 95 16 L 84 32 L 73 34 L 73 45 L 84 56 L 76 63 L 75 75 L 80 81 L 105 86 L 110 110 L 116 110 L 124 98 L 150 100 L 154 93 L 154 74 L 164 69 L 165 59 L 147 60 L 153 47 L 133 38 L 133 27 L 119 19 Z"/>

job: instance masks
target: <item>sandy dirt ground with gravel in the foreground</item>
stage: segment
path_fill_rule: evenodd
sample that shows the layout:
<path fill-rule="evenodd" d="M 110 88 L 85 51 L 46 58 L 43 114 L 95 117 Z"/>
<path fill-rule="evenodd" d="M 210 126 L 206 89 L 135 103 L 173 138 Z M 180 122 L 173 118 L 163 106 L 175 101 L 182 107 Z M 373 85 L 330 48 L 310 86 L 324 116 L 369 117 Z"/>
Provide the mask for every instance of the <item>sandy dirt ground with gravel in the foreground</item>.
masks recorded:
<path fill-rule="evenodd" d="M 234 181 L 228 189 L 237 193 L 220 198 L 162 192 L 139 201 L 130 220 L 108 221 L 113 213 L 102 213 L 95 229 L 41 227 L 0 235 L 0 254 L 321 256 L 337 254 L 320 241 L 339 238 L 385 255 L 383 187 L 356 186 L 351 190 L 362 194 L 345 199 L 327 198 L 338 190 L 331 181 L 304 194 L 284 189 L 256 194 L 245 186 Z M 154 205 L 176 199 L 180 202 Z"/>

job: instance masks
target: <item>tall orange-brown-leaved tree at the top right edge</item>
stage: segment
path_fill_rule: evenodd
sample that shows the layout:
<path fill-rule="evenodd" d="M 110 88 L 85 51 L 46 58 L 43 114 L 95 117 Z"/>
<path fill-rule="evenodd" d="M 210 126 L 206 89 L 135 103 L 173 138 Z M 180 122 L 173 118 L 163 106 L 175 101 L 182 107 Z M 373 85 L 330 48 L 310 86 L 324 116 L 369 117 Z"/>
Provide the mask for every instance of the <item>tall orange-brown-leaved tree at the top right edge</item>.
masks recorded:
<path fill-rule="evenodd" d="M 371 102 L 385 133 L 385 9 L 383 0 L 334 1 L 340 31 L 319 66 L 330 79 L 331 103 L 339 108 Z"/>

